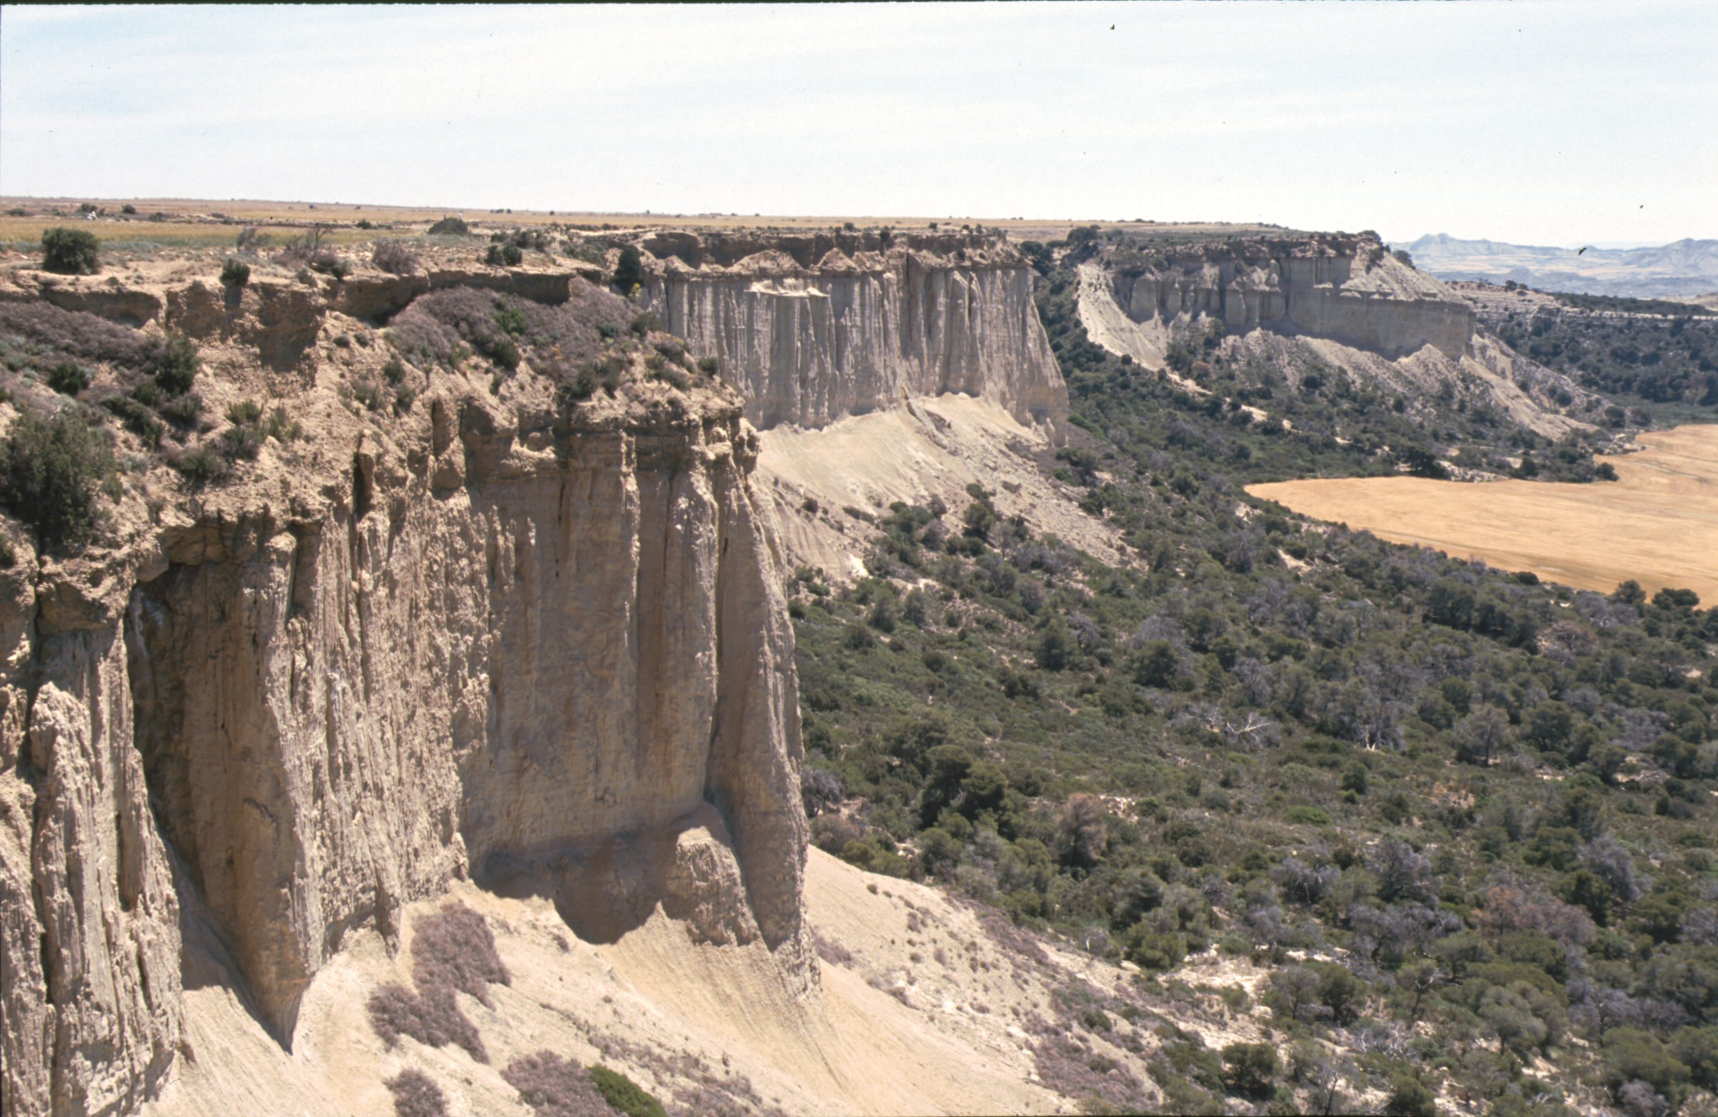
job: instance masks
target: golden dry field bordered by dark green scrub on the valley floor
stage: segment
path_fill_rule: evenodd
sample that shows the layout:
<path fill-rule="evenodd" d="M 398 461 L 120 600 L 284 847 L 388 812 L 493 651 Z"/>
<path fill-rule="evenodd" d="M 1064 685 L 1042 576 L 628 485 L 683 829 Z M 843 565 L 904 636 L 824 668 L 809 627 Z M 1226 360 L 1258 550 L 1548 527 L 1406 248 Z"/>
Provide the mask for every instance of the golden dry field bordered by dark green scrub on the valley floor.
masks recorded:
<path fill-rule="evenodd" d="M 1342 478 L 1251 485 L 1316 519 L 1419 543 L 1459 558 L 1579 589 L 1624 579 L 1648 593 L 1694 589 L 1718 603 L 1718 426 L 1639 436 L 1636 454 L 1608 457 L 1618 481 L 1465 485 L 1423 478 Z"/>

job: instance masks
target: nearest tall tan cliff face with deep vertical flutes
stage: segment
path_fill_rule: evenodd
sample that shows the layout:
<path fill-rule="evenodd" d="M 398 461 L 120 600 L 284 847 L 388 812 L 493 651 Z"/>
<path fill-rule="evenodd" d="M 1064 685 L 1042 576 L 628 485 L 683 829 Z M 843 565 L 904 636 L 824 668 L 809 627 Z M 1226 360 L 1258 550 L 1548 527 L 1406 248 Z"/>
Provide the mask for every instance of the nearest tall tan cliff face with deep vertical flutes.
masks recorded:
<path fill-rule="evenodd" d="M 814 981 L 792 631 L 732 395 L 569 418 L 440 376 L 376 426 L 323 380 L 292 461 L 0 572 L 7 1114 L 158 1086 L 192 918 L 285 1043 L 349 930 L 467 876 L 581 935 L 660 902 Z"/>

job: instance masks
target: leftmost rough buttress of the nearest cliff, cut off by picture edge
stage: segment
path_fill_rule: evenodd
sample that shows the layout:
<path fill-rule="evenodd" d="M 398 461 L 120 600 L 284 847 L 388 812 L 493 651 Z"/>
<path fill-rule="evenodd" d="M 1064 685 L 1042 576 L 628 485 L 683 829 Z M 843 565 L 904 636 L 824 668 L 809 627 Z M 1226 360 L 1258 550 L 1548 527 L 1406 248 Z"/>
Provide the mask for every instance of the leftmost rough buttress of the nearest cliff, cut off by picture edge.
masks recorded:
<path fill-rule="evenodd" d="M 179 904 L 155 840 L 119 617 L 5 572 L 0 1108 L 127 1112 L 179 1043 Z"/>

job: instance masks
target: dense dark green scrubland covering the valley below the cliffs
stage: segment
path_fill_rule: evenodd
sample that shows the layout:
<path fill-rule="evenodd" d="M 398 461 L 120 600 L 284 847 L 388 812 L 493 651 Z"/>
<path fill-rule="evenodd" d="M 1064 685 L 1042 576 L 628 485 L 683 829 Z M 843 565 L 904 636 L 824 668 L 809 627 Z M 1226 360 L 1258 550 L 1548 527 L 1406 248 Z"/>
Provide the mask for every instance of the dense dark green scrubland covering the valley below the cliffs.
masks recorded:
<path fill-rule="evenodd" d="M 1074 553 L 974 488 L 959 516 L 878 519 L 850 588 L 799 571 L 814 840 L 1148 985 L 1208 949 L 1271 966 L 1275 1052 L 1165 1053 L 1175 1108 L 1350 1107 L 1318 1090 L 1333 1064 L 1392 1112 L 1654 1114 L 1718 1086 L 1718 612 L 1247 497 L 1393 469 L 1378 447 L 1412 433 L 1404 409 L 1220 361 L 1196 397 L 1084 337 L 1070 256 L 1039 256 L 1079 428 L 1053 467 L 1139 562 Z M 1591 443 L 1562 461 L 1500 416 L 1438 418 L 1544 473 L 1591 467 Z"/>

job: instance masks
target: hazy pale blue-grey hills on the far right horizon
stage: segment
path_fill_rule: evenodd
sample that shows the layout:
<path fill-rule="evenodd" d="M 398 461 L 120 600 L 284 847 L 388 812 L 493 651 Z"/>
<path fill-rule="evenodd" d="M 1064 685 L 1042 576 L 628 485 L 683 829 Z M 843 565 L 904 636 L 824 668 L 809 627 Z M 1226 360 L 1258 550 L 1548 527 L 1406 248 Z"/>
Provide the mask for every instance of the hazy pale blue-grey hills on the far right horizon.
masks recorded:
<path fill-rule="evenodd" d="M 1392 247 L 1405 247 L 1416 266 L 1445 280 L 1515 280 L 1539 290 L 1636 299 L 1691 299 L 1718 290 L 1718 241 L 1577 253 L 1435 234 Z"/>

